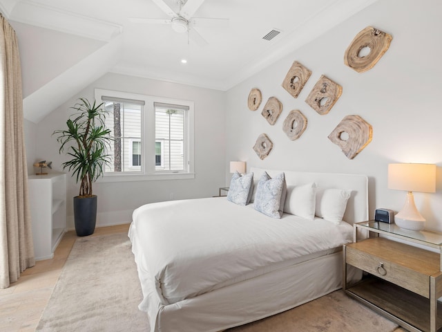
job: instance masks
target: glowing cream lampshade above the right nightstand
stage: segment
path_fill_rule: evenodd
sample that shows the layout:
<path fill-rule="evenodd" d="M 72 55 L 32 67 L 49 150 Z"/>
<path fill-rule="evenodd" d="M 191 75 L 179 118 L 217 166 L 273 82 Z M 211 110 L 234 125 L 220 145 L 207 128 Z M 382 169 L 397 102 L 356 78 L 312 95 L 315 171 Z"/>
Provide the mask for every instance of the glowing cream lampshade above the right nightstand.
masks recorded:
<path fill-rule="evenodd" d="M 388 188 L 407 192 L 435 192 L 436 165 L 389 164 Z"/>

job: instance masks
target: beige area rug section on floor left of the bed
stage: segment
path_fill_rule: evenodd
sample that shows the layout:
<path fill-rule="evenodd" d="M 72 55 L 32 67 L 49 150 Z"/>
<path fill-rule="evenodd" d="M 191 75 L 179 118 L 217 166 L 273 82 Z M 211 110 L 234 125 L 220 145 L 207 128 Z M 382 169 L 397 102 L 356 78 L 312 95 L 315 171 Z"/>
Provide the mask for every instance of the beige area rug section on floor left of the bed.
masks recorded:
<path fill-rule="evenodd" d="M 148 331 L 126 233 L 75 241 L 36 331 Z"/>

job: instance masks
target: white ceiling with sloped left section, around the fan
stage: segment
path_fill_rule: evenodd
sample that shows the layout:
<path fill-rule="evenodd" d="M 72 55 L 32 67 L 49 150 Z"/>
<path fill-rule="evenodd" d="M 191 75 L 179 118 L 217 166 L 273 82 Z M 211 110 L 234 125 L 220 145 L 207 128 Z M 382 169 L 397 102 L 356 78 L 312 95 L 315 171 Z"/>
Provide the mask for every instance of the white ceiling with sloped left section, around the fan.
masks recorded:
<path fill-rule="evenodd" d="M 0 10 L 19 39 L 24 115 L 37 123 L 108 72 L 226 91 L 375 1 L 205 0 L 193 17 L 229 19 L 194 26 L 206 46 L 133 23 L 169 19 L 152 0 L 0 0 Z M 281 33 L 262 39 L 272 29 Z"/>

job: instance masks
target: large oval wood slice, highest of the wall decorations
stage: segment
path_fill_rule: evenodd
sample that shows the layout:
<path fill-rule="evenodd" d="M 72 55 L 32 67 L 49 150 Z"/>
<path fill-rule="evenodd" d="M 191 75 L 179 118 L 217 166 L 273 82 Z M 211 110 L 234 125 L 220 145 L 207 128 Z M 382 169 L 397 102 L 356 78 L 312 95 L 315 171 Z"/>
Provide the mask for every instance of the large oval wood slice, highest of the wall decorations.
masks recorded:
<path fill-rule="evenodd" d="M 367 26 L 354 37 L 345 50 L 344 63 L 358 73 L 364 73 L 381 59 L 390 47 L 392 39 L 388 33 Z"/>

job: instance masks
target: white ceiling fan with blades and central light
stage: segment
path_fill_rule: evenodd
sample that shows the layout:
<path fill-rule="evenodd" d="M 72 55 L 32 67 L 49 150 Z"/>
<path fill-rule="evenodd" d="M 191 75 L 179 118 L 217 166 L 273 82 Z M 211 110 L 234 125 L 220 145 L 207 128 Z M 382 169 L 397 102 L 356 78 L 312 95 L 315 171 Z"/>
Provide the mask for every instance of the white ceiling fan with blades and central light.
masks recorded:
<path fill-rule="evenodd" d="M 170 19 L 153 19 L 153 18 L 137 18 L 132 17 L 129 20 L 133 23 L 140 24 L 168 24 L 177 33 L 187 33 L 189 39 L 198 44 L 205 46 L 207 44 L 195 27 L 215 26 L 224 28 L 229 24 L 229 19 L 216 19 L 209 17 L 192 17 L 193 14 L 200 8 L 204 0 L 177 0 L 179 10 L 174 11 L 164 2 L 164 0 L 152 0 L 163 12 L 165 12 Z"/>

